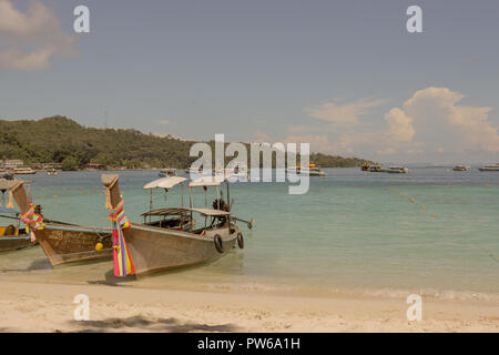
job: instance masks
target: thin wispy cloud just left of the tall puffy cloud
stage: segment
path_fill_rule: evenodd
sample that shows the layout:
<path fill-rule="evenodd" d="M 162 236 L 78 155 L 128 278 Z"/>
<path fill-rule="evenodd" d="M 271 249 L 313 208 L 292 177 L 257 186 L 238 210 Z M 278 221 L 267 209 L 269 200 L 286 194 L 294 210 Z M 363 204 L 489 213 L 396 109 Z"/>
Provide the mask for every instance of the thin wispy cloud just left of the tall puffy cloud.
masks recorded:
<path fill-rule="evenodd" d="M 361 99 L 346 104 L 326 102 L 317 108 L 307 108 L 305 111 L 315 119 L 346 126 L 356 125 L 361 115 L 384 103 L 386 103 L 386 100 L 373 99 Z"/>

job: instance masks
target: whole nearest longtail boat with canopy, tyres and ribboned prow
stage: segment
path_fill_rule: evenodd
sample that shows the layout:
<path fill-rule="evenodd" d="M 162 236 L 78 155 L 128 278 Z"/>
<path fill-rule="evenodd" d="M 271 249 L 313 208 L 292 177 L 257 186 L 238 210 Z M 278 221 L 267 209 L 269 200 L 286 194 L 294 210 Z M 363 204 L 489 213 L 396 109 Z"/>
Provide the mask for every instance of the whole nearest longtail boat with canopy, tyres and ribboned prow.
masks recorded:
<path fill-rule="evenodd" d="M 152 221 L 147 224 L 130 224 L 124 215 L 119 176 L 103 174 L 101 181 L 106 189 L 106 206 L 112 211 L 110 219 L 113 221 L 114 275 L 116 276 L 149 275 L 206 263 L 225 255 L 236 244 L 240 247 L 244 245 L 243 234 L 235 225 L 235 221 L 232 221 L 230 206 L 222 203 L 222 199 L 215 200 L 214 204 L 217 209 L 194 209 L 191 189 L 191 207 L 163 209 L 143 214 L 144 219 L 157 216 L 161 220 L 170 213 L 182 213 L 189 216 L 191 223 L 181 224 L 177 229 L 172 229 L 167 224 L 154 224 Z M 190 183 L 190 187 L 216 186 L 217 197 L 220 185 L 220 180 Z M 195 229 L 193 213 L 204 217 L 203 227 Z"/>

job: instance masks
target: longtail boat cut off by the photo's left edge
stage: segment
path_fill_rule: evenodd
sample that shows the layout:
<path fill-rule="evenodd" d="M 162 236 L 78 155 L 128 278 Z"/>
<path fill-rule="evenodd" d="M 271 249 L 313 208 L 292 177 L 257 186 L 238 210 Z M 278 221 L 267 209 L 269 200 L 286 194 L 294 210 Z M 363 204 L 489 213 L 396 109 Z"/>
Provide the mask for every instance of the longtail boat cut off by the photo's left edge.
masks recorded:
<path fill-rule="evenodd" d="M 0 179 L 0 192 L 2 203 L 0 204 L 0 217 L 12 220 L 8 225 L 0 225 L 0 252 L 16 251 L 30 246 L 32 243 L 26 229 L 20 226 L 20 212 L 12 209 L 10 203 L 6 205 L 6 192 L 12 182 Z"/>

